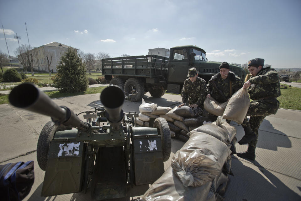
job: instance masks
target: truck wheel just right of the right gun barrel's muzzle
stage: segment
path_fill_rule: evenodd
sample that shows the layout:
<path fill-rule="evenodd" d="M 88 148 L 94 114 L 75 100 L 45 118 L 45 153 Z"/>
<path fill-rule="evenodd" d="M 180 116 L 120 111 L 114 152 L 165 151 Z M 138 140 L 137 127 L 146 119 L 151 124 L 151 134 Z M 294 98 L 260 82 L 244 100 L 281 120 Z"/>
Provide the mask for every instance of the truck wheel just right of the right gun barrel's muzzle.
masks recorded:
<path fill-rule="evenodd" d="M 144 95 L 144 84 L 136 78 L 127 79 L 124 84 L 125 95 L 129 95 L 132 93 L 133 86 L 136 86 L 137 94 L 134 97 L 132 97 L 132 101 L 139 101 Z"/>

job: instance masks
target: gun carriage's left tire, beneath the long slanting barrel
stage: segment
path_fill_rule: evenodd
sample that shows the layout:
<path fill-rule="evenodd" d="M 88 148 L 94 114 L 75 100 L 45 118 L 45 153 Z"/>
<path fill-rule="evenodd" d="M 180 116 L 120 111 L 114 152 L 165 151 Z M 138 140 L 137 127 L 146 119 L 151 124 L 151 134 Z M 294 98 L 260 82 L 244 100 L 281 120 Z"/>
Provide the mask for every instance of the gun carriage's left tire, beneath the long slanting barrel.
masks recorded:
<path fill-rule="evenodd" d="M 49 121 L 43 127 L 37 144 L 37 161 L 42 170 L 46 170 L 47 157 L 49 151 L 50 141 L 56 131 L 67 130 L 65 126 L 56 126 L 53 121 Z"/>

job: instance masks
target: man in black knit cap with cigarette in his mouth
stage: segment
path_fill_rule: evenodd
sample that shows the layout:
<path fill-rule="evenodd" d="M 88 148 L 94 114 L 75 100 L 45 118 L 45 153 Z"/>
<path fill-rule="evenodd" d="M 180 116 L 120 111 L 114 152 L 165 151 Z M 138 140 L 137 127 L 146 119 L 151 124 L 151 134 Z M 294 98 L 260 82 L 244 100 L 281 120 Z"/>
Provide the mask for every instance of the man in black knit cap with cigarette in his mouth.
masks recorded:
<path fill-rule="evenodd" d="M 215 88 L 212 82 L 214 82 L 217 88 Z M 219 66 L 219 73 L 214 75 L 206 86 L 206 97 L 211 96 L 219 103 L 224 103 L 228 101 L 236 91 L 242 88 L 242 86 L 240 78 L 236 77 L 235 74 L 230 71 L 229 64 L 227 62 L 222 62 Z"/>

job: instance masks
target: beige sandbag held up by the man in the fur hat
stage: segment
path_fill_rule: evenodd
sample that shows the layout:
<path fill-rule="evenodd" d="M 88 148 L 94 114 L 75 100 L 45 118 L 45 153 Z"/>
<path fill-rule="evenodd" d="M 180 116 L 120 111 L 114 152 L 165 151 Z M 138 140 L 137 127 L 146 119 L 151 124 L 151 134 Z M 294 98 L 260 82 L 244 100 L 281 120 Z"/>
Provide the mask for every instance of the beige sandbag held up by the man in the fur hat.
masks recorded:
<path fill-rule="evenodd" d="M 246 89 L 241 88 L 229 99 L 223 114 L 224 119 L 233 120 L 239 124 L 244 121 L 250 106 L 250 97 Z"/>

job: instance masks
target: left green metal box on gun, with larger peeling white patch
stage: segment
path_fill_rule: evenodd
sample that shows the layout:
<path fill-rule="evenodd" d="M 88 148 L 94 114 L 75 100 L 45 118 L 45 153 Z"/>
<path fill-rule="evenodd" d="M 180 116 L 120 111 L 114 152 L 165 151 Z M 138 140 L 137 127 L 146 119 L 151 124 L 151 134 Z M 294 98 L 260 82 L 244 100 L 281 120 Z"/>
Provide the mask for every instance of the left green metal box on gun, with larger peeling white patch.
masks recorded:
<path fill-rule="evenodd" d="M 50 141 L 41 196 L 80 192 L 84 159 L 82 141 Z"/>

